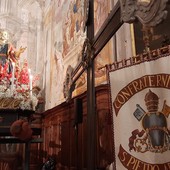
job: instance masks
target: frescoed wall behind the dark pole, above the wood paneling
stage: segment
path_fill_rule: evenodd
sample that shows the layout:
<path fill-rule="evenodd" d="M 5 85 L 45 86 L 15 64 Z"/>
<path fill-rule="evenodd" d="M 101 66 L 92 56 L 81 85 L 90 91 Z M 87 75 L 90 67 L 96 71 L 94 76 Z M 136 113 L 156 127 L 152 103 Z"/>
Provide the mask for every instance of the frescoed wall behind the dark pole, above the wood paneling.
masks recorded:
<path fill-rule="evenodd" d="M 77 66 L 81 57 L 82 47 L 86 38 L 85 5 L 86 0 L 55 1 L 52 8 L 52 44 L 51 49 L 51 107 L 62 103 L 63 82 L 67 67 Z M 110 0 L 95 0 L 95 33 L 99 30 L 110 11 Z M 57 7 L 57 10 L 56 10 Z M 102 16 L 102 17 L 98 17 Z M 110 63 L 112 56 L 112 42 L 109 42 L 95 59 L 96 85 L 106 81 L 106 72 L 103 67 Z M 60 63 L 60 64 L 59 64 Z M 87 75 L 84 73 L 76 82 L 75 95 L 87 90 Z M 55 95 L 54 95 L 55 94 Z"/>

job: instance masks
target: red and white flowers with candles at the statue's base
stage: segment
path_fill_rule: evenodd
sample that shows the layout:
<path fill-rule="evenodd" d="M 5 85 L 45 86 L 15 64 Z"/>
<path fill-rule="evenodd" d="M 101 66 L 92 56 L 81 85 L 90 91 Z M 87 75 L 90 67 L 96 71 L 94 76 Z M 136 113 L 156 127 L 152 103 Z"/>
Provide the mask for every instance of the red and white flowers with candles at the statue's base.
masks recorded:
<path fill-rule="evenodd" d="M 22 66 L 14 62 L 0 64 L 0 108 L 36 110 L 41 98 L 38 80 L 39 75 L 31 74 L 27 60 Z"/>

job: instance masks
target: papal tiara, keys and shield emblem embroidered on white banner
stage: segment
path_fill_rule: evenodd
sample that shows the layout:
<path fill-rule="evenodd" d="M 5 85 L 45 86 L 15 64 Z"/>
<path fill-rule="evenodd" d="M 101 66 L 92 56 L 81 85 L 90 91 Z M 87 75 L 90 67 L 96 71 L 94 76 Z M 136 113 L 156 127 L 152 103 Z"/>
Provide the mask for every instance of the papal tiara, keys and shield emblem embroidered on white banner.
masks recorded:
<path fill-rule="evenodd" d="M 170 131 L 167 127 L 167 118 L 170 106 L 164 101 L 162 111 L 158 111 L 159 98 L 151 90 L 145 95 L 145 111 L 139 104 L 133 115 L 142 123 L 142 131 L 132 132 L 129 138 L 130 151 L 162 153 L 170 150 Z"/>

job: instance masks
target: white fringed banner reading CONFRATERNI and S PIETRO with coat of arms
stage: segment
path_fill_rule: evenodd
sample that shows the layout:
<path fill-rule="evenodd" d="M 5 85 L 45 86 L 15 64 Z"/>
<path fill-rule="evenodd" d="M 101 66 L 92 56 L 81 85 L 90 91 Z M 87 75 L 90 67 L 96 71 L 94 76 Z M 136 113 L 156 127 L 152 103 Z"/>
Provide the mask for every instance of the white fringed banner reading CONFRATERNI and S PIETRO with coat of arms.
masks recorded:
<path fill-rule="evenodd" d="M 115 170 L 170 170 L 170 46 L 164 49 L 108 67 Z"/>

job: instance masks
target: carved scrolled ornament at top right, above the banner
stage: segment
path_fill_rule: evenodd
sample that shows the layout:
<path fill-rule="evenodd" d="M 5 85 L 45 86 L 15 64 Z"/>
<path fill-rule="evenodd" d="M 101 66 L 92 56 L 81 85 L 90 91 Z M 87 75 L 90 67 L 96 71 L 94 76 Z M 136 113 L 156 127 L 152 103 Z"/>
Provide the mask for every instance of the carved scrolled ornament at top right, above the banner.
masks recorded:
<path fill-rule="evenodd" d="M 143 25 L 152 27 L 166 19 L 168 0 L 120 0 L 121 18 L 126 23 L 138 19 Z"/>

